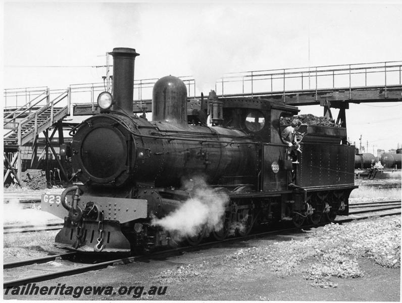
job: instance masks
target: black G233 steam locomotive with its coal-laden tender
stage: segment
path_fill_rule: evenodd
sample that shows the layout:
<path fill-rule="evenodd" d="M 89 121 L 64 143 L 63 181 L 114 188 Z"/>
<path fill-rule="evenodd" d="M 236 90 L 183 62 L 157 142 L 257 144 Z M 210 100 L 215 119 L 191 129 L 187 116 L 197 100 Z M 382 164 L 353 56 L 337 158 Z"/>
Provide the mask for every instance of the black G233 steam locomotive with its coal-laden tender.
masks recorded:
<path fill-rule="evenodd" d="M 188 114 L 186 86 L 173 76 L 156 82 L 148 121 L 133 114 L 139 54 L 119 47 L 111 55 L 113 95 L 100 93 L 100 113 L 72 132 L 67 156 L 82 184 L 42 195 L 42 210 L 64 218 L 57 246 L 153 250 L 179 240 L 197 245 L 206 237 L 245 235 L 281 220 L 301 226 L 348 215 L 357 186 L 355 147 L 341 143 L 345 128 L 302 125 L 300 151 L 290 150 L 280 120 L 297 114 L 296 107 L 211 91 Z M 184 206 L 187 213 L 175 217 Z M 206 220 L 183 232 L 181 221 L 199 215 L 200 206 L 209 207 Z M 158 224 L 169 216 L 173 227 Z"/>

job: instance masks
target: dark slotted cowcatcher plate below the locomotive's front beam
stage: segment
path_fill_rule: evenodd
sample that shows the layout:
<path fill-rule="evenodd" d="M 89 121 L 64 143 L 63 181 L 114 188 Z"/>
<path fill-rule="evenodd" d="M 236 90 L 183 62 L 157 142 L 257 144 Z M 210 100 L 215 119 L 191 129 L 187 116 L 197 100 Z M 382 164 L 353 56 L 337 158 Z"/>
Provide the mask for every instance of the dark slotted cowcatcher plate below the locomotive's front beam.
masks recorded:
<path fill-rule="evenodd" d="M 74 226 L 69 217 L 56 235 L 56 246 L 78 251 L 93 252 L 98 244 L 98 222 L 82 220 L 80 228 Z M 130 252 L 130 242 L 123 235 L 118 221 L 103 221 L 102 252 Z"/>

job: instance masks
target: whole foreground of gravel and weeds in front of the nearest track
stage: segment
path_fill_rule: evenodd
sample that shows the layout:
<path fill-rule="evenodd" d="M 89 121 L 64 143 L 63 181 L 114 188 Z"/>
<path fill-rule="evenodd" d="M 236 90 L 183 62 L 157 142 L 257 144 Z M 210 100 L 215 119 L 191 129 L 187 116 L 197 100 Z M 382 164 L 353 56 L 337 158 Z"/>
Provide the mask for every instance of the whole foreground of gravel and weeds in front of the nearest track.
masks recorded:
<path fill-rule="evenodd" d="M 164 300 L 399 301 L 400 218 L 331 224 L 314 232 L 283 234 L 177 257 L 109 267 L 37 283 L 39 286 L 167 286 Z M 5 298 L 17 298 L 7 295 Z M 71 299 L 71 296 L 18 296 Z M 82 295 L 79 299 L 133 299 Z"/>

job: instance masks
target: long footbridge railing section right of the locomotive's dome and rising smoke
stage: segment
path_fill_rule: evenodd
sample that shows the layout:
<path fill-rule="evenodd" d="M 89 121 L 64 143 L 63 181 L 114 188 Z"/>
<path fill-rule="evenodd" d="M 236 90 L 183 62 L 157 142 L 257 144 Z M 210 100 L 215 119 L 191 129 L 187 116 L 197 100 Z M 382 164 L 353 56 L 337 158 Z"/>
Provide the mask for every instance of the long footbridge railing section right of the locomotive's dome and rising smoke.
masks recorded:
<path fill-rule="evenodd" d="M 354 87 L 384 87 L 385 97 L 390 85 L 401 85 L 402 61 L 326 65 L 290 69 L 245 71 L 225 74 L 216 81 L 218 95 L 348 88 L 349 98 Z M 240 89 L 241 90 L 240 90 Z"/>

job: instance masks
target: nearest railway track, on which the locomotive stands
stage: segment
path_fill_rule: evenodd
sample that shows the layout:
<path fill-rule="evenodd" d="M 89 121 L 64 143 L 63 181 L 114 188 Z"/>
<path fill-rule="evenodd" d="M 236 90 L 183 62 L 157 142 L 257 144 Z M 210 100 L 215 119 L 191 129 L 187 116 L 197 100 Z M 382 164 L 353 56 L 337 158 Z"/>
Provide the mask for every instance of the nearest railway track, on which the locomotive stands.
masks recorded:
<path fill-rule="evenodd" d="M 399 201 L 384 201 L 384 202 L 377 202 L 377 203 L 361 203 L 361 204 L 355 204 L 351 205 L 350 208 L 352 209 L 349 211 L 349 217 L 338 217 L 338 219 L 335 221 L 338 224 L 350 222 L 350 221 L 355 221 L 355 220 L 364 220 L 368 218 L 373 218 L 373 217 L 385 217 L 385 216 L 391 216 L 391 215 L 398 215 L 400 214 L 400 200 Z M 363 209 L 361 209 L 363 208 Z M 355 211 L 355 209 L 357 209 Z M 311 227 L 317 227 L 317 226 L 323 226 L 326 223 L 322 223 L 319 225 L 305 225 L 303 226 L 304 229 L 309 229 Z M 65 276 L 70 276 L 70 275 L 75 275 L 75 274 L 80 274 L 84 272 L 89 272 L 89 271 L 94 271 L 94 270 L 99 270 L 99 269 L 104 269 L 107 268 L 108 266 L 115 266 L 115 265 L 122 265 L 122 264 L 128 264 L 140 260 L 149 260 L 149 259 L 155 259 L 155 258 L 160 258 L 161 256 L 172 256 L 172 255 L 177 255 L 180 254 L 184 251 L 194 251 L 194 250 L 199 250 L 199 249 L 207 249 L 210 247 L 214 247 L 216 245 L 221 245 L 223 243 L 229 243 L 232 241 L 243 241 L 251 238 L 258 238 L 258 237 L 264 237 L 267 235 L 273 235 L 273 234 L 283 234 L 285 232 L 297 232 L 300 231 L 300 228 L 284 228 L 284 229 L 276 229 L 273 231 L 266 231 L 262 233 L 256 233 L 256 234 L 250 234 L 247 236 L 242 236 L 242 237 L 235 237 L 235 238 L 227 238 L 223 241 L 213 241 L 213 242 L 206 242 L 199 244 L 197 246 L 184 246 L 184 247 L 177 247 L 173 249 L 168 249 L 168 250 L 163 250 L 163 251 L 158 251 L 158 252 L 153 252 L 152 254 L 149 255 L 141 255 L 141 256 L 133 256 L 133 257 L 126 257 L 126 258 L 117 258 L 114 259 L 114 256 L 110 256 L 109 258 L 106 257 L 106 260 L 97 260 L 94 264 L 84 264 L 82 266 L 77 266 L 77 261 L 80 256 L 78 252 L 68 252 L 66 254 L 61 254 L 61 255 L 55 255 L 55 256 L 47 256 L 43 258 L 36 258 L 36 259 L 29 259 L 29 260 L 22 260 L 18 262 L 13 262 L 13 263 L 6 263 L 4 264 L 3 268 L 4 270 L 13 270 L 15 271 L 17 268 L 24 268 L 24 272 L 29 271 L 27 267 L 30 266 L 36 266 L 36 268 L 33 268 L 32 271 L 40 271 L 42 270 L 42 274 L 39 275 L 32 275 L 28 277 L 23 277 L 23 278 L 18 278 L 18 279 L 13 279 L 13 280 L 8 280 L 3 283 L 3 288 L 7 287 L 12 287 L 12 286 L 19 286 L 27 283 L 33 283 L 33 282 L 40 282 L 40 281 L 47 281 L 59 277 L 65 277 Z M 91 255 L 85 255 L 86 258 Z M 99 258 L 100 255 L 96 255 L 96 258 Z M 114 258 L 112 258 L 114 257 Z M 105 258 L 105 257 L 104 257 Z M 65 268 L 60 269 L 60 270 L 49 270 L 46 267 L 42 267 L 40 269 L 40 265 L 45 265 L 49 262 L 53 261 L 60 261 L 60 262 L 67 262 Z M 93 260 L 92 260 L 93 262 Z M 82 264 L 82 263 L 81 263 Z M 39 268 L 37 268 L 39 267 Z M 6 273 L 5 273 L 6 276 Z"/>

